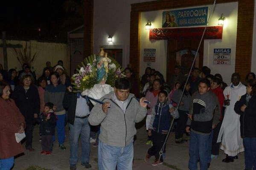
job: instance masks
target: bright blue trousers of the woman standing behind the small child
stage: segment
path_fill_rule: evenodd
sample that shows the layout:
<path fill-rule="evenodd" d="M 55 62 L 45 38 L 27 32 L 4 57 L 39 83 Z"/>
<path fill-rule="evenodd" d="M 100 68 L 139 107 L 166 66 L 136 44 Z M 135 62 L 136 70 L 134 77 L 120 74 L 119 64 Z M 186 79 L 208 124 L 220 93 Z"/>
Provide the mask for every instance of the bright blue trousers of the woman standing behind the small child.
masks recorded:
<path fill-rule="evenodd" d="M 58 120 L 56 121 L 58 143 L 63 144 L 65 141 L 65 117 L 66 114 L 56 115 Z M 52 136 L 52 141 L 55 141 L 55 135 Z"/>

